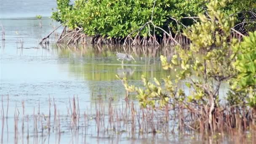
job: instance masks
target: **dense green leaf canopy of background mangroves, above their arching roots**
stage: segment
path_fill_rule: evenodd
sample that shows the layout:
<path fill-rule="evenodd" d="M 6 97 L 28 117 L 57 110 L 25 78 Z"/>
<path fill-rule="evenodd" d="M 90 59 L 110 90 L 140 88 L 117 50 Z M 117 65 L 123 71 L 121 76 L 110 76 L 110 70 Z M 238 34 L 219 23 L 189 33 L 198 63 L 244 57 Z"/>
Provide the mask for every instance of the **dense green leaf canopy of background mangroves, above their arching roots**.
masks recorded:
<path fill-rule="evenodd" d="M 168 30 L 180 29 L 176 22 L 184 16 L 197 16 L 203 12 L 204 0 L 156 0 L 153 22 Z M 69 5 L 69 0 L 57 0 L 57 11 L 52 18 L 67 21 L 71 29 L 83 27 L 88 35 L 100 34 L 109 37 L 125 37 L 151 19 L 154 0 L 76 0 Z M 184 24 L 192 24 L 191 19 Z M 141 35 L 147 35 L 143 29 Z M 161 35 L 156 31 L 156 34 Z"/>

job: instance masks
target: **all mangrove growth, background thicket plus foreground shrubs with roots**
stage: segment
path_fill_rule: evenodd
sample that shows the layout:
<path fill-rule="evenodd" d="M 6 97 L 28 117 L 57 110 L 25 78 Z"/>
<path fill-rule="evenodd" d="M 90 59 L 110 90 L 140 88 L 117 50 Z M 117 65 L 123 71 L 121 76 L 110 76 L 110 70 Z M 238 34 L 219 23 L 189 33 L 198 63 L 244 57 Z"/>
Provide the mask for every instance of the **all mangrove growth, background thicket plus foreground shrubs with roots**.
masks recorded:
<path fill-rule="evenodd" d="M 57 43 L 173 45 L 163 69 L 177 71 L 144 87 L 129 85 L 140 107 L 176 116 L 179 131 L 206 134 L 256 130 L 256 2 L 254 0 L 57 0 L 52 18 L 64 25 Z M 45 37 L 41 43 L 47 43 Z M 183 45 L 189 45 L 184 50 Z M 197 53 L 201 53 L 200 57 Z M 179 71 L 177 70 L 179 67 Z M 117 76 L 118 77 L 118 76 Z M 224 98 L 221 83 L 229 83 Z M 185 84 L 189 93 L 180 85 Z M 133 111 L 131 111 L 133 112 Z M 133 120 L 132 120 L 133 121 Z"/>

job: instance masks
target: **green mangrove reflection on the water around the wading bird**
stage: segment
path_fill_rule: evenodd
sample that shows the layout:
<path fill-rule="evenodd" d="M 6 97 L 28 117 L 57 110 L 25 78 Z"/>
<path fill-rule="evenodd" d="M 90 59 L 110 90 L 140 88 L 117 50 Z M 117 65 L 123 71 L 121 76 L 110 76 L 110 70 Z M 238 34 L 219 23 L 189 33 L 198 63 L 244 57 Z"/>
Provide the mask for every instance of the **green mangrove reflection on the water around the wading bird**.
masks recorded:
<path fill-rule="evenodd" d="M 82 77 L 85 81 L 118 80 L 115 75 L 119 77 L 126 76 L 128 79 L 132 80 L 141 80 L 141 75 L 145 75 L 149 78 L 160 78 L 171 74 L 162 69 L 160 58 L 155 56 L 157 55 L 156 53 L 160 53 L 160 48 L 157 47 L 123 47 L 120 45 L 80 45 L 72 47 L 71 45 L 59 45 L 56 49 L 59 53 L 59 58 L 70 58 L 70 73 L 75 77 Z M 163 51 L 167 51 L 167 49 L 168 48 L 165 48 Z M 120 63 L 117 61 L 116 51 L 132 53 L 135 59 L 138 60 L 137 63 L 129 65 L 128 63 L 131 62 L 128 61 L 121 67 Z M 143 51 L 149 54 L 149 56 L 146 56 L 146 54 L 141 55 L 140 53 Z M 136 57 L 136 55 L 140 57 Z M 169 55 L 171 55 L 171 51 L 169 51 Z"/>

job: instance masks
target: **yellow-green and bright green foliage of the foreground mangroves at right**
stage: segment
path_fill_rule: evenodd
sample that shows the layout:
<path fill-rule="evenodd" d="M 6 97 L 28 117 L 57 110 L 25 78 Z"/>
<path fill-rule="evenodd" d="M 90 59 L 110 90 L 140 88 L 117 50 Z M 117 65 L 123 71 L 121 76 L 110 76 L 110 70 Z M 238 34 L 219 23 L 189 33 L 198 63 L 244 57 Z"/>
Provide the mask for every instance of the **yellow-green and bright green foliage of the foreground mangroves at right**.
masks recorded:
<path fill-rule="evenodd" d="M 170 77 L 163 78 L 164 89 L 157 80 L 154 85 L 145 77 L 142 77 L 144 88 L 133 85 L 129 89 L 125 83 L 128 91 L 136 91 L 143 107 L 163 107 L 168 101 L 178 101 L 187 107 L 203 104 L 211 107 L 211 118 L 211 112 L 219 107 L 221 83 L 230 81 L 232 91 L 224 97 L 229 104 L 243 105 L 246 99 L 256 108 L 256 32 L 244 37 L 242 43 L 230 39 L 236 19 L 224 11 L 229 3 L 232 1 L 211 1 L 207 5 L 208 14 L 200 14 L 200 21 L 184 30 L 184 35 L 192 42 L 189 51 L 177 47 L 178 54 L 170 62 L 161 56 L 163 69 L 177 71 L 176 67 L 181 68 L 174 82 Z M 189 94 L 185 94 L 180 85 L 186 85 Z"/>

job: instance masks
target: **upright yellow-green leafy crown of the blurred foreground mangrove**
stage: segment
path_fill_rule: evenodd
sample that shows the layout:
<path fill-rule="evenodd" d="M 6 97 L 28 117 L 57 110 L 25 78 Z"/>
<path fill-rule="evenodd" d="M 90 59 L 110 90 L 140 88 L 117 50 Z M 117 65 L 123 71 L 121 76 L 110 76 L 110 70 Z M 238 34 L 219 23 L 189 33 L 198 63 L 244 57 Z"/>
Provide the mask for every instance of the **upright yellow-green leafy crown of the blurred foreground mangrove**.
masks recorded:
<path fill-rule="evenodd" d="M 223 2 L 215 0 L 209 3 L 208 17 L 200 14 L 200 22 L 184 31 L 192 43 L 188 52 L 177 49 L 181 61 L 177 61 L 178 56 L 173 56 L 171 63 L 161 58 L 164 69 L 181 66 L 176 82 L 185 81 L 185 85 L 192 91 L 186 102 L 219 105 L 220 84 L 234 75 L 234 57 L 229 56 L 229 52 L 237 40 L 228 39 L 235 18 L 225 16 L 221 10 Z M 200 57 L 197 56 L 198 52 L 201 53 Z M 196 78 L 192 78 L 192 75 Z M 179 91 L 184 93 L 184 90 Z"/>

